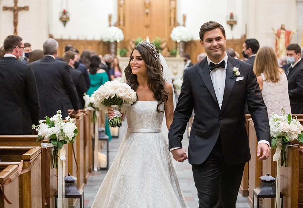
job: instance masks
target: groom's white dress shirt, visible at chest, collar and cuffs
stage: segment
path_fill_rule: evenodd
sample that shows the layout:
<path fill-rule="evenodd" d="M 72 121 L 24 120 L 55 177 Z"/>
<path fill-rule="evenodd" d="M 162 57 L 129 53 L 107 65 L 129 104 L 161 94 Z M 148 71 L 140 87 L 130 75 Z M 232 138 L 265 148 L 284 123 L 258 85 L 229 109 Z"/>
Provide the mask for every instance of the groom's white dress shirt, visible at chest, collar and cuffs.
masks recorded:
<path fill-rule="evenodd" d="M 223 101 L 223 95 L 224 95 L 224 89 L 225 89 L 225 78 L 226 78 L 226 67 L 227 67 L 227 58 L 228 58 L 228 56 L 227 56 L 227 53 L 225 52 L 225 57 L 221 61 L 219 61 L 219 63 L 215 63 L 214 61 L 211 61 L 208 58 L 208 56 L 206 58 L 207 58 L 207 62 L 208 62 L 208 68 L 209 68 L 210 62 L 212 62 L 214 64 L 219 64 L 222 61 L 225 61 L 225 68 L 219 67 L 219 68 L 213 69 L 212 71 L 209 71 L 210 78 L 211 78 L 211 81 L 213 83 L 214 91 L 216 93 L 217 101 L 218 101 L 219 107 L 221 109 L 222 101 Z M 266 140 L 260 140 L 258 142 L 258 144 L 259 143 L 266 143 L 270 147 L 269 142 L 266 141 Z M 180 149 L 180 147 L 170 148 L 170 151 L 172 151 L 174 149 Z"/>

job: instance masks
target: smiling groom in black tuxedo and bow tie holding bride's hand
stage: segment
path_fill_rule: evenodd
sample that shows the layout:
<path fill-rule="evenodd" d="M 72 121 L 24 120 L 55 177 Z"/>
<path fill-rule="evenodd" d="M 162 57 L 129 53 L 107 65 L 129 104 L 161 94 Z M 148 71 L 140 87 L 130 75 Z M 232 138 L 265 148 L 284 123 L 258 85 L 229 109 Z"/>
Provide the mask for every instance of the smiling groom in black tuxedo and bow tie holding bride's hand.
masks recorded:
<path fill-rule="evenodd" d="M 181 141 L 193 108 L 188 158 L 199 208 L 235 208 L 244 165 L 251 159 L 245 102 L 255 124 L 260 160 L 266 160 L 269 153 L 267 109 L 252 65 L 226 54 L 223 26 L 204 23 L 199 35 L 207 57 L 184 72 L 169 148 L 175 160 L 187 158 Z"/>

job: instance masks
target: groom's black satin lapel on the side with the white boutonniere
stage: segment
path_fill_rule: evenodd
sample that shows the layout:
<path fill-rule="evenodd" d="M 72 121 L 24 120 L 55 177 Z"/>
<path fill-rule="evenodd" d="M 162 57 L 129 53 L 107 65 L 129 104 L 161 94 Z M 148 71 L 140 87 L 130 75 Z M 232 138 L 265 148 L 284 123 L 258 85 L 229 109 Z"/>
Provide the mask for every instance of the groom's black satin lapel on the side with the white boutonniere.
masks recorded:
<path fill-rule="evenodd" d="M 229 98 L 231 95 L 231 92 L 234 88 L 235 82 L 237 77 L 234 76 L 234 67 L 240 68 L 240 64 L 234 66 L 234 64 L 231 63 L 230 61 L 231 57 L 228 57 L 227 60 L 227 67 L 226 67 L 226 78 L 225 78 L 225 89 L 224 89 L 224 95 L 223 95 L 223 101 L 222 101 L 222 106 L 221 106 L 221 113 L 223 112 Z M 241 71 L 239 70 L 241 73 Z"/>

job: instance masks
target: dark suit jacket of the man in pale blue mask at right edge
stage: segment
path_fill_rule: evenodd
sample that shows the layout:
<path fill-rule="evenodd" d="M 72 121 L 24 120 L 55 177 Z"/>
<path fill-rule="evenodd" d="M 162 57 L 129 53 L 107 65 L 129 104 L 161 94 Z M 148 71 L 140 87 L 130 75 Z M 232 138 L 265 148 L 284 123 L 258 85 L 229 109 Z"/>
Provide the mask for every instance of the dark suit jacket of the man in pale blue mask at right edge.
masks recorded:
<path fill-rule="evenodd" d="M 288 80 L 288 94 L 291 113 L 303 114 L 303 60 L 294 68 L 290 64 L 283 65 Z"/>

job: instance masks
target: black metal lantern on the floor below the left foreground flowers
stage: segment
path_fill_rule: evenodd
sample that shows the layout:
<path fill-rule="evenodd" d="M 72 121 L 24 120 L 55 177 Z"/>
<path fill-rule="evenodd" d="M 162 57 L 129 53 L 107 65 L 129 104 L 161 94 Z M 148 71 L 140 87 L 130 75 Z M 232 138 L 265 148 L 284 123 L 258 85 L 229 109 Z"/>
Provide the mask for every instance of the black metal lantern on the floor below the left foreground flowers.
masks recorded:
<path fill-rule="evenodd" d="M 75 184 L 77 179 L 68 173 L 64 178 L 65 182 L 65 195 L 66 199 L 79 199 L 80 200 L 80 208 L 84 208 L 84 190 L 78 188 Z M 57 198 L 58 193 L 55 194 L 55 208 L 57 208 Z"/>

